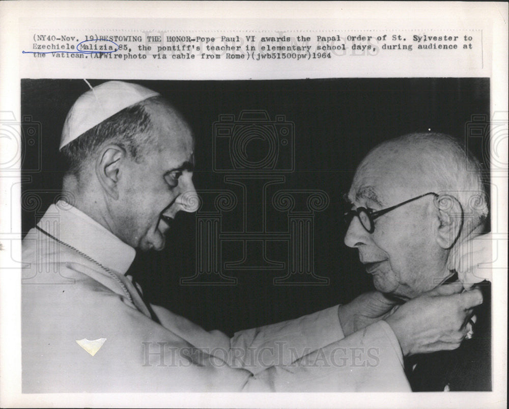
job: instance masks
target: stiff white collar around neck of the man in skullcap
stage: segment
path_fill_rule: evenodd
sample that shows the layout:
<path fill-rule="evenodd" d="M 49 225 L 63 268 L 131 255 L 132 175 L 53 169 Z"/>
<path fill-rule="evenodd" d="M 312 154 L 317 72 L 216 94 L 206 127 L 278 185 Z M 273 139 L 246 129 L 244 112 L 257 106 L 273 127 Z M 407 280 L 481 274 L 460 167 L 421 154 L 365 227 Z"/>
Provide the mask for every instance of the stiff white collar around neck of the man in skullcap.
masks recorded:
<path fill-rule="evenodd" d="M 48 229 L 57 222 L 58 228 Z M 48 224 L 50 223 L 50 224 Z M 102 265 L 125 274 L 129 269 L 136 251 L 101 226 L 81 210 L 65 201 L 52 204 L 37 223 L 41 229 L 54 234 L 58 239 L 93 258 Z"/>

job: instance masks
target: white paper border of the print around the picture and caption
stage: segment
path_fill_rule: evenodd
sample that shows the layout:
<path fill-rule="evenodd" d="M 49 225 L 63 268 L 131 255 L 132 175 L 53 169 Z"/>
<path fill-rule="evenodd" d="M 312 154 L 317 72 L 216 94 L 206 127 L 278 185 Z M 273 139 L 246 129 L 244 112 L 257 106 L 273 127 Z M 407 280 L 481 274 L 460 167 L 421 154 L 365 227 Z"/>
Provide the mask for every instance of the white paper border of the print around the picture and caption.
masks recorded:
<path fill-rule="evenodd" d="M 316 30 L 335 26 L 350 31 L 398 29 L 412 30 L 482 30 L 483 49 L 481 64 L 478 61 L 457 64 L 442 61 L 440 64 L 411 64 L 411 54 L 398 54 L 397 62 L 386 59 L 348 60 L 345 65 L 305 64 L 272 66 L 268 70 L 224 69 L 205 71 L 142 69 L 133 64 L 132 69 L 115 71 L 97 67 L 77 67 L 76 63 L 63 62 L 52 65 L 51 70 L 36 70 L 20 57 L 22 46 L 30 44 L 23 37 L 38 26 L 63 29 L 76 21 L 82 28 L 108 23 L 108 29 L 119 29 L 119 19 L 139 20 L 140 26 L 153 29 L 163 19 L 200 20 L 200 28 L 219 27 L 220 30 L 237 30 L 245 22 L 256 21 L 256 29 L 298 30 L 305 22 L 313 20 Z M 186 21 L 182 22 L 185 28 Z M 191 21 L 191 20 L 189 20 Z M 300 24 L 300 25 L 299 25 Z M 0 111 L 12 112 L 20 117 L 20 78 L 132 78 L 132 79 L 266 79 L 303 77 L 480 77 L 491 78 L 491 112 L 505 112 L 507 124 L 507 3 L 469 2 L 2 2 L 0 4 Z M 69 59 L 71 60 L 71 59 Z M 471 63 L 471 64 L 470 64 Z M 278 71 L 274 71 L 278 69 Z M 507 133 L 505 132 L 505 135 Z M 506 137 L 505 137 L 506 138 Z M 0 141 L 2 143 L 2 141 Z M 492 141 L 493 143 L 493 141 Z M 493 149 L 493 147 L 492 147 Z M 0 163 L 12 157 L 13 152 L 0 149 Z M 505 158 L 499 158 L 507 163 Z M 493 163 L 493 162 L 492 162 Z M 496 171 L 496 170 L 495 170 Z M 499 172 L 500 173 L 500 172 Z M 493 173 L 492 170 L 492 174 Z M 19 182 L 19 173 L 10 172 L 0 177 L 2 223 L 20 226 L 19 209 L 10 209 L 11 186 Z M 494 188 L 501 200 L 494 203 L 498 214 L 496 232 L 507 232 L 507 171 L 493 177 Z M 20 194 L 19 183 L 14 194 Z M 11 213 L 11 210 L 14 212 Z M 493 210 L 493 209 L 492 209 Z M 11 218 L 11 214 L 12 216 Z M 6 220 L 4 216 L 8 217 Z M 19 237 L 2 237 L 4 251 L 0 251 L 0 266 L 5 267 L 9 258 L 20 260 Z M 497 246 L 494 246 L 496 251 Z M 503 249 L 502 249 L 503 248 Z M 507 253 L 499 246 L 494 266 L 504 274 L 494 275 L 493 323 L 494 357 L 493 392 L 485 393 L 427 393 L 426 399 L 416 393 L 328 393 L 328 394 L 31 394 L 22 395 L 20 368 L 20 275 L 19 270 L 0 269 L 0 406 L 2 407 L 506 407 L 507 380 Z"/>

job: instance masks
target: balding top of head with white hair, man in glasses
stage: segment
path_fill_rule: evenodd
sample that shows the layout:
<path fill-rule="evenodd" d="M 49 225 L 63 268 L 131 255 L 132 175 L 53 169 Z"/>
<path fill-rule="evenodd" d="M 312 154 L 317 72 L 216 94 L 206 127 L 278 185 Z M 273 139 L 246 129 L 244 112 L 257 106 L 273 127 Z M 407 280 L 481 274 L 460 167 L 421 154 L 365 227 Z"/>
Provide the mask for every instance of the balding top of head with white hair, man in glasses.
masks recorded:
<path fill-rule="evenodd" d="M 449 135 L 410 133 L 375 147 L 357 168 L 352 188 L 375 178 L 381 183 L 376 196 L 383 203 L 395 192 L 409 198 L 427 192 L 453 196 L 463 207 L 469 233 L 488 215 L 480 170 L 478 160 Z"/>

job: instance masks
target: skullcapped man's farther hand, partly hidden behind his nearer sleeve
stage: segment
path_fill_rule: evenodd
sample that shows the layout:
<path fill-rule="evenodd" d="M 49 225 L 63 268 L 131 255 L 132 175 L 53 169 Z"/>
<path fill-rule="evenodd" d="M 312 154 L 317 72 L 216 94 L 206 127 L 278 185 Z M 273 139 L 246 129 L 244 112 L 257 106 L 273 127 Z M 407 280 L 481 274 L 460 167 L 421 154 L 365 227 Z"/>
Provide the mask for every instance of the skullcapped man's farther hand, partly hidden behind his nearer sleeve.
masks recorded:
<path fill-rule="evenodd" d="M 397 303 L 379 291 L 370 291 L 359 295 L 350 303 L 340 306 L 337 315 L 340 318 L 345 337 L 384 319 Z"/>

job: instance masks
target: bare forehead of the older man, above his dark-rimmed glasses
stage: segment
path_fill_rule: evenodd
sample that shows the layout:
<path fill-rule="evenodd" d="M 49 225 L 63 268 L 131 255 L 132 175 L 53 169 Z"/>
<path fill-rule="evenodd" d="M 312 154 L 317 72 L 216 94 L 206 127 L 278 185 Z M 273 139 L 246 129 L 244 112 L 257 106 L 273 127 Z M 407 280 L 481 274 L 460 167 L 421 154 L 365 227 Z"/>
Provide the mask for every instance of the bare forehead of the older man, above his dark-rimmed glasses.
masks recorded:
<path fill-rule="evenodd" d="M 420 194 L 426 169 L 400 149 L 379 147 L 370 152 L 355 172 L 348 193 L 352 203 L 372 202 L 380 207 Z"/>

